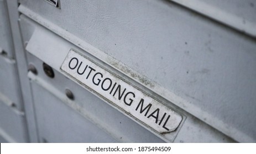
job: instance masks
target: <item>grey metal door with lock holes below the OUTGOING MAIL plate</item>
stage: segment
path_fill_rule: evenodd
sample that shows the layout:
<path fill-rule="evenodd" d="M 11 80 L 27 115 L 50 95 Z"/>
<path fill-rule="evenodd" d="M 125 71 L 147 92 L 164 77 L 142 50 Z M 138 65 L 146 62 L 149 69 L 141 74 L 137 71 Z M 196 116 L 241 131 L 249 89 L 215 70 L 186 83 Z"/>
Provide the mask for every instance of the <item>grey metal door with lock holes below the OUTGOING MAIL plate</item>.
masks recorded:
<path fill-rule="evenodd" d="M 29 73 L 39 139 L 47 142 L 163 142 L 148 130 L 54 70 L 49 78 L 43 62 L 28 54 L 38 70 Z M 74 94 L 74 101 L 65 95 Z M 80 114 L 79 114 L 80 113 Z"/>

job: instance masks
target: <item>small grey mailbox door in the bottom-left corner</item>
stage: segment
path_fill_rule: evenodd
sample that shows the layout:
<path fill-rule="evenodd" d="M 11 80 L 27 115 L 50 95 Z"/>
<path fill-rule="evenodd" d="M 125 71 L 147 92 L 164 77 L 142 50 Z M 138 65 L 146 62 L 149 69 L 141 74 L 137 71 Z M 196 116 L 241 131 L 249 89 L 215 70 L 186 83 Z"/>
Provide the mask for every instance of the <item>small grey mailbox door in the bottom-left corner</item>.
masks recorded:
<path fill-rule="evenodd" d="M 28 142 L 24 113 L 0 100 L 0 136 L 7 142 Z"/>

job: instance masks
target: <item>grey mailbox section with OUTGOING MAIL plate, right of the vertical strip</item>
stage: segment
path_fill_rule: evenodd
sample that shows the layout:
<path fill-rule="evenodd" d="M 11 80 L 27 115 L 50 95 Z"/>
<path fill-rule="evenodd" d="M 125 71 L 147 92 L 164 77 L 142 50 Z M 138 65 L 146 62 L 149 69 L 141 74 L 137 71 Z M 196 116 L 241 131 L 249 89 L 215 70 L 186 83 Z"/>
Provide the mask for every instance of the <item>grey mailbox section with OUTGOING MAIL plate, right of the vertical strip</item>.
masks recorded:
<path fill-rule="evenodd" d="M 18 66 L 28 68 L 18 67 L 31 93 L 28 133 L 38 142 L 255 142 L 255 4 L 246 3 L 19 1 L 10 19 Z"/>

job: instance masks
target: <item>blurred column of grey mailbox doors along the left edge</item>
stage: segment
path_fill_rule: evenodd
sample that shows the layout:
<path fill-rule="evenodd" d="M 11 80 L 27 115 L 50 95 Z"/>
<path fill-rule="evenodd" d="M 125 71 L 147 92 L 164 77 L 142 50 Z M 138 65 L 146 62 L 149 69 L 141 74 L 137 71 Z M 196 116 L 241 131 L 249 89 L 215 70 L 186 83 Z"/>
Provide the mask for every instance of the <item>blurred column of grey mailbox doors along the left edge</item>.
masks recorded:
<path fill-rule="evenodd" d="M 28 142 L 6 1 L 0 1 L 0 141 Z"/>

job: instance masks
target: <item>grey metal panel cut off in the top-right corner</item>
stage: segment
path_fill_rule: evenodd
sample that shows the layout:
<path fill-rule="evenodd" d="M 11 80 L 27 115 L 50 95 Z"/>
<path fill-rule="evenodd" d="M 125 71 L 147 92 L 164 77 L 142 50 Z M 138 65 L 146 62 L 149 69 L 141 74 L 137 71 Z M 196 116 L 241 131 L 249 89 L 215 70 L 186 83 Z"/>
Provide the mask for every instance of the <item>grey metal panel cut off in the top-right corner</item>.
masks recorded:
<path fill-rule="evenodd" d="M 209 1 L 209 0 L 170 0 L 207 18 L 220 22 L 231 29 L 256 37 L 255 1 Z"/>

